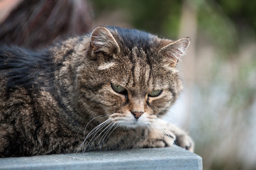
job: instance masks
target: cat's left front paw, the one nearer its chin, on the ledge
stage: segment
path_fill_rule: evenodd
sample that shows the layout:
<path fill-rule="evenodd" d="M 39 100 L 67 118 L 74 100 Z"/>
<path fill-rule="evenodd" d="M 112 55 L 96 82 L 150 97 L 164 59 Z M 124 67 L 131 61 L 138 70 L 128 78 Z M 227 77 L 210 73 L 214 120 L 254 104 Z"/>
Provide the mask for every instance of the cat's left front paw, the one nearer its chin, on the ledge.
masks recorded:
<path fill-rule="evenodd" d="M 174 144 L 175 135 L 165 128 L 150 130 L 148 140 L 144 147 L 171 147 Z"/>

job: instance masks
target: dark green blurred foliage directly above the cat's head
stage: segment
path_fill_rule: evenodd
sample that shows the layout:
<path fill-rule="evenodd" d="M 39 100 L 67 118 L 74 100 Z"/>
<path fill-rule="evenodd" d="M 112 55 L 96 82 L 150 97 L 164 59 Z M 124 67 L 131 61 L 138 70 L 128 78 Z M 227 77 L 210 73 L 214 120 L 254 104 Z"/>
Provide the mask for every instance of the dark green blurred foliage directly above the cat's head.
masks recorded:
<path fill-rule="evenodd" d="M 179 31 L 181 1 L 155 0 L 94 0 L 96 16 L 104 11 L 116 9 L 129 13 L 131 23 L 135 28 L 147 30 L 150 33 L 176 38 Z"/>

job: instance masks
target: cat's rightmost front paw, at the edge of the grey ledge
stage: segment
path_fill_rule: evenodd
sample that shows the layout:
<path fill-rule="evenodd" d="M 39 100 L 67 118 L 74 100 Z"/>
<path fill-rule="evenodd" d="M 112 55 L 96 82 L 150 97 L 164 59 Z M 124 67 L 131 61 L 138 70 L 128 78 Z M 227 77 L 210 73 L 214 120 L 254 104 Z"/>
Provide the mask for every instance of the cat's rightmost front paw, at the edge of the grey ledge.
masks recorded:
<path fill-rule="evenodd" d="M 174 144 L 184 149 L 187 149 L 190 152 L 194 152 L 194 142 L 187 134 L 177 135 Z"/>

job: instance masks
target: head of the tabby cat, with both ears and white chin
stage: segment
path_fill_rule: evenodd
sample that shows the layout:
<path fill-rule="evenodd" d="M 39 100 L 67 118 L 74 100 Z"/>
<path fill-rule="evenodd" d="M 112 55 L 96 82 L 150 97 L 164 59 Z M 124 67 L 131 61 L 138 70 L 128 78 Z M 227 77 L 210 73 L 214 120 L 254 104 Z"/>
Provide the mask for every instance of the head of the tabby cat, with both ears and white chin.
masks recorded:
<path fill-rule="evenodd" d="M 182 91 L 176 68 L 189 38 L 177 41 L 126 28 L 96 28 L 82 50 L 77 91 L 84 110 L 120 126 L 152 125 Z"/>

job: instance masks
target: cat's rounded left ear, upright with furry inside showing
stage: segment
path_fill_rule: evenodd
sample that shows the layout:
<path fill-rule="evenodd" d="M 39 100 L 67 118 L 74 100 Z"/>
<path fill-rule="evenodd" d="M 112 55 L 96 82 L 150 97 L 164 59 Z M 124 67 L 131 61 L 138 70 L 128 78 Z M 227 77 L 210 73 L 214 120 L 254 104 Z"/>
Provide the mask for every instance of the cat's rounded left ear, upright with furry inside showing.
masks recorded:
<path fill-rule="evenodd" d="M 95 59 L 97 53 L 113 55 L 119 51 L 118 43 L 107 28 L 97 27 L 92 31 L 89 47 L 91 59 Z"/>

